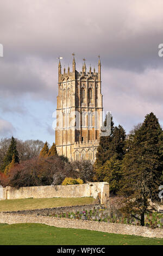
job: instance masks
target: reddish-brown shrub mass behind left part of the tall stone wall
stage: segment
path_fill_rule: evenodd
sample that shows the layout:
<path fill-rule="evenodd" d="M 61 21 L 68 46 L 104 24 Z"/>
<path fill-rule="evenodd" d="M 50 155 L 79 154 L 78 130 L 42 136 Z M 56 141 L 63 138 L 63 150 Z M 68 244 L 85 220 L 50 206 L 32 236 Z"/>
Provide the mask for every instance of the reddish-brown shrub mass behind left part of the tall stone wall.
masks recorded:
<path fill-rule="evenodd" d="M 0 176 L 2 186 L 28 187 L 28 186 L 48 186 L 57 179 L 55 185 L 60 185 L 66 176 L 77 177 L 77 172 L 73 170 L 70 163 L 66 163 L 59 156 L 35 157 L 32 160 L 15 164 L 7 176 Z M 54 185 L 54 184 L 53 184 Z"/>

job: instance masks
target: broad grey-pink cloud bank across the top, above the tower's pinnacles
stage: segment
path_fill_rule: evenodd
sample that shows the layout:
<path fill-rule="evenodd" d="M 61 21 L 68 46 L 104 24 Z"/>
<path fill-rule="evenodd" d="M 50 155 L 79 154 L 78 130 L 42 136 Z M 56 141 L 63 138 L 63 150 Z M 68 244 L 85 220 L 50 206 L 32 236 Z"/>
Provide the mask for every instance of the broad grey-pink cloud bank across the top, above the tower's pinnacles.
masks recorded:
<path fill-rule="evenodd" d="M 0 7 L 6 58 L 30 54 L 48 61 L 74 51 L 91 62 L 101 53 L 104 65 L 115 68 L 162 65 L 161 0 L 6 0 Z"/>

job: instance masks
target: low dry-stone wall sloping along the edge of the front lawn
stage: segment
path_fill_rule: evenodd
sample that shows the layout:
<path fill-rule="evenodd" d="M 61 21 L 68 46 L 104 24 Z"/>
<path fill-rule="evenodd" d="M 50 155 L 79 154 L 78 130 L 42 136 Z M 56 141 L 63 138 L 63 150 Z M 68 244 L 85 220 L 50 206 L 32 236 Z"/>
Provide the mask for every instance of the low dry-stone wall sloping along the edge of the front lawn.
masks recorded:
<path fill-rule="evenodd" d="M 32 215 L 16 215 L 16 214 L 0 214 L 0 223 L 42 223 L 59 228 L 79 228 L 96 230 L 107 233 L 125 234 L 125 235 L 140 235 L 145 237 L 163 238 L 163 230 L 160 228 L 151 229 L 147 227 L 105 223 L 95 221 L 70 220 L 67 218 L 55 218 L 48 216 L 32 216 Z"/>

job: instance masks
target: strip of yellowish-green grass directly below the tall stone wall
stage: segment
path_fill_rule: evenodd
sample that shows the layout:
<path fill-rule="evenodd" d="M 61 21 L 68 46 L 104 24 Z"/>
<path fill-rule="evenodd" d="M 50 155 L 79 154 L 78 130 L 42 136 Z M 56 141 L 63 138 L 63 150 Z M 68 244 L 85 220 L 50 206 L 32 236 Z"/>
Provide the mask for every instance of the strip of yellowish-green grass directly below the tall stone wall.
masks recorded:
<path fill-rule="evenodd" d="M 27 198 L 27 199 L 1 200 L 0 211 L 42 209 L 42 208 L 53 208 L 58 206 L 82 205 L 82 204 L 91 204 L 91 203 L 93 203 L 92 197 Z"/>

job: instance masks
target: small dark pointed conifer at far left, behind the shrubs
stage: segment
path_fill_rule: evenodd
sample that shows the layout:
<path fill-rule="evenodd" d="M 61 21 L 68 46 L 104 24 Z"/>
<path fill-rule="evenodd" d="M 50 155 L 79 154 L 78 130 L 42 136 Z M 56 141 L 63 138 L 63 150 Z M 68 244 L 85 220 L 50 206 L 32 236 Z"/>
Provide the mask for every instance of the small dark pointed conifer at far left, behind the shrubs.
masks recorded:
<path fill-rule="evenodd" d="M 14 137 L 12 136 L 9 149 L 4 157 L 4 160 L 3 160 L 3 165 L 1 168 L 2 172 L 4 172 L 5 167 L 7 167 L 8 164 L 10 164 L 10 162 L 12 161 L 13 155 L 15 156 L 15 163 L 19 163 L 18 152 L 17 152 L 17 148 L 16 148 L 16 141 L 15 141 Z"/>

